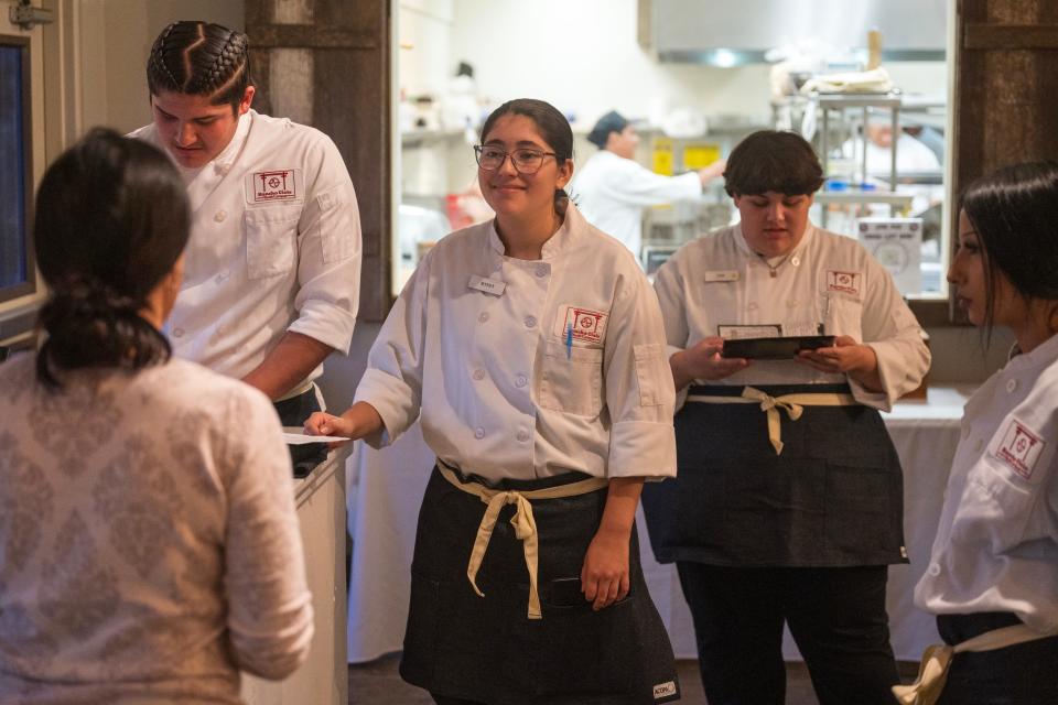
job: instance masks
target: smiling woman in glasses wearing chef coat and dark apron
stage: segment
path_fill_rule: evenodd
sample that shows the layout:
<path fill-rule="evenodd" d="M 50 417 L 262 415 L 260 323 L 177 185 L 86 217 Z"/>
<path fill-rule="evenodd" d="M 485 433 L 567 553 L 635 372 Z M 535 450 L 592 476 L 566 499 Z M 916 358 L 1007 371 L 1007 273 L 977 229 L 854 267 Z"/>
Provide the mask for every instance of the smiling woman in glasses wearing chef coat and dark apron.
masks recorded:
<path fill-rule="evenodd" d="M 665 332 L 635 259 L 565 196 L 572 145 L 543 101 L 488 117 L 496 218 L 430 250 L 353 406 L 306 423 L 379 447 L 421 414 L 438 466 L 401 675 L 438 703 L 679 697 L 634 525 L 644 479 L 676 470 Z"/>

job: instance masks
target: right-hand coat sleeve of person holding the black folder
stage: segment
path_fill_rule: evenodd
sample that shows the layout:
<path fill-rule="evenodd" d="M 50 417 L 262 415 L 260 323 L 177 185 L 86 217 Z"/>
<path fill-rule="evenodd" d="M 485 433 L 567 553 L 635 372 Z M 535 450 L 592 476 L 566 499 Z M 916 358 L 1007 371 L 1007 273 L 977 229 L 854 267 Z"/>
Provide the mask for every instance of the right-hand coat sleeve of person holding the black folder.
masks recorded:
<path fill-rule="evenodd" d="M 856 401 L 889 411 L 903 394 L 918 387 L 929 370 L 930 354 L 915 314 L 900 296 L 893 278 L 868 259 L 868 276 L 873 285 L 863 305 L 863 341 L 878 358 L 878 376 L 884 390 L 873 392 L 852 378 L 849 386 Z"/>

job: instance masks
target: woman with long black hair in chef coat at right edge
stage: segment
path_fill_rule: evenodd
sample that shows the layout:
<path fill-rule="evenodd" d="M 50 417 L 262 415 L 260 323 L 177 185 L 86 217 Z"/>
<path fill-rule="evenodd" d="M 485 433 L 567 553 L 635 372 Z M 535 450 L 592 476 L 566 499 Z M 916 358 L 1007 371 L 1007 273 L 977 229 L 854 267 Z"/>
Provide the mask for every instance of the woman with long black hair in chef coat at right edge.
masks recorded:
<path fill-rule="evenodd" d="M 1058 703 L 1056 224 L 1056 162 L 974 182 L 959 214 L 948 281 L 971 323 L 1010 328 L 1016 345 L 967 402 L 932 554 L 915 588 L 944 642 L 969 647 L 951 660 L 938 703 Z M 1001 640 L 982 651 L 965 644 L 982 634 Z"/>

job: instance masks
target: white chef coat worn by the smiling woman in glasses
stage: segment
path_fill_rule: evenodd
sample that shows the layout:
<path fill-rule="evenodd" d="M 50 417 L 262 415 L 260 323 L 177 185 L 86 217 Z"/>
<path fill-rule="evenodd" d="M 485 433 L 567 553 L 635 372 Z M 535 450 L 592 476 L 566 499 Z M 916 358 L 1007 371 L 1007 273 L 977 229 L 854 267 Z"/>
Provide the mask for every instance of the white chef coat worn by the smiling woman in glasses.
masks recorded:
<path fill-rule="evenodd" d="M 356 391 L 385 422 L 420 415 L 445 463 L 487 479 L 676 475 L 674 393 L 657 297 L 573 205 L 540 260 L 494 221 L 443 238 L 386 319 Z"/>

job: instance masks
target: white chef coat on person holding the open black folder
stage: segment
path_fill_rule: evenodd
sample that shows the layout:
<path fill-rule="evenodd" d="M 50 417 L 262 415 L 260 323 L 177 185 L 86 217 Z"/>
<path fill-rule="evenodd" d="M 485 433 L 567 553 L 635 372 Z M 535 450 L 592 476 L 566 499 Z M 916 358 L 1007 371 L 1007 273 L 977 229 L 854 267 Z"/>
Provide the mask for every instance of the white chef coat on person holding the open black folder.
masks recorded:
<path fill-rule="evenodd" d="M 669 355 L 721 334 L 721 326 L 760 326 L 745 337 L 848 335 L 874 349 L 885 388 L 872 392 L 844 375 L 794 360 L 753 360 L 705 384 L 833 384 L 848 381 L 862 404 L 888 411 L 929 369 L 929 349 L 893 278 L 857 241 L 809 223 L 776 276 L 749 249 L 741 224 L 680 248 L 658 271 Z M 731 336 L 734 337 L 734 336 Z M 682 395 L 681 395 L 682 397 Z"/>

